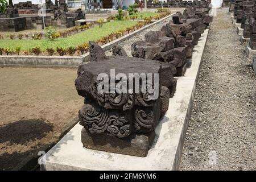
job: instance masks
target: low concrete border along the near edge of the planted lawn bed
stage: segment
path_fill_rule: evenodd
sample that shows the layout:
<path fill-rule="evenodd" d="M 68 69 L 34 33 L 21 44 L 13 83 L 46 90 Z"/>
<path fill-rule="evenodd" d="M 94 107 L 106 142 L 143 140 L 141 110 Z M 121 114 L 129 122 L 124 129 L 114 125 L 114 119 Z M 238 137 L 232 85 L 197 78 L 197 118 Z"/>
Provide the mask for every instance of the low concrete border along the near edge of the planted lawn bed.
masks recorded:
<path fill-rule="evenodd" d="M 139 28 L 138 30 L 135 30 L 131 32 L 130 34 L 127 34 L 125 36 L 122 36 L 121 38 L 115 39 L 110 43 L 104 44 L 102 49 L 104 51 L 108 51 L 113 46 L 117 45 L 118 43 L 122 42 L 123 40 L 129 39 L 131 36 L 138 34 L 139 32 L 146 30 L 147 28 L 153 26 L 156 23 L 162 22 L 163 20 L 170 18 L 175 13 L 172 13 L 168 16 L 165 16 L 162 19 L 159 19 L 151 24 L 147 24 L 146 26 Z M 2 55 L 0 56 L 0 66 L 2 67 L 31 67 L 33 65 L 34 67 L 55 67 L 55 68 L 61 68 L 61 67 L 74 67 L 78 66 L 80 64 L 86 63 L 89 61 L 89 52 L 85 53 L 81 56 L 7 56 Z"/>

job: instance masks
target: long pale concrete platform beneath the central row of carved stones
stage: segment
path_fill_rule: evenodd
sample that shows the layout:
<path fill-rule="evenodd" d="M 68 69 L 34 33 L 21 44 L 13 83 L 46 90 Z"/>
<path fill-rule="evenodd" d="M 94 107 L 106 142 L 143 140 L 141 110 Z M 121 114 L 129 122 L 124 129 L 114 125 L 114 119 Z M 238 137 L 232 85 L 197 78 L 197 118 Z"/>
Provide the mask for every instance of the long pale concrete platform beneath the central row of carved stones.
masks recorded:
<path fill-rule="evenodd" d="M 177 170 L 209 30 L 193 49 L 192 64 L 177 77 L 175 96 L 156 127 L 156 137 L 144 158 L 83 148 L 77 124 L 40 160 L 41 170 Z"/>

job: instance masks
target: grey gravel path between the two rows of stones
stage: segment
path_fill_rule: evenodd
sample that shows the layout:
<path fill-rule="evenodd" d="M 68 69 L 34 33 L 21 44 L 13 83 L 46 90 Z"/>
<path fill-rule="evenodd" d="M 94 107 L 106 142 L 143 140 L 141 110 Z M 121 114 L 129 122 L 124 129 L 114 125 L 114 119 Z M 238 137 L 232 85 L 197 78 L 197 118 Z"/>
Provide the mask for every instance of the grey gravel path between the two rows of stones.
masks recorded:
<path fill-rule="evenodd" d="M 214 17 L 180 170 L 256 169 L 256 76 L 230 15 Z"/>

